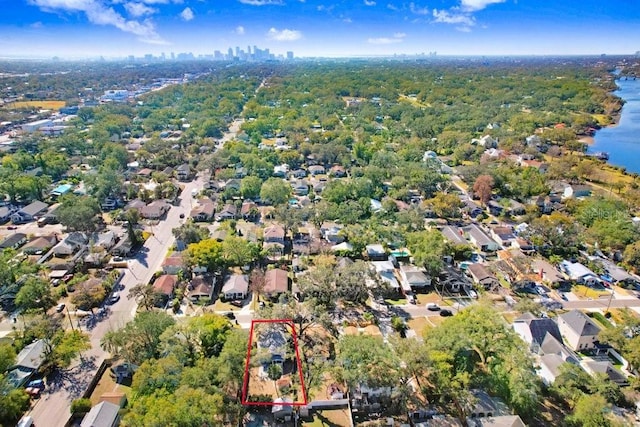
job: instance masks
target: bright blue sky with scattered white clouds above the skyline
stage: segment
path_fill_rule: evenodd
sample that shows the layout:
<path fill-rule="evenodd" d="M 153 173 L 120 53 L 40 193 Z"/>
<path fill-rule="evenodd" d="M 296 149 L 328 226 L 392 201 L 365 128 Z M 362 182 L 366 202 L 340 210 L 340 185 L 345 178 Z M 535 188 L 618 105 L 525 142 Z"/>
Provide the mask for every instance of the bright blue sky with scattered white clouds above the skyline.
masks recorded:
<path fill-rule="evenodd" d="M 631 54 L 636 0 L 0 0 L 0 56 Z"/>

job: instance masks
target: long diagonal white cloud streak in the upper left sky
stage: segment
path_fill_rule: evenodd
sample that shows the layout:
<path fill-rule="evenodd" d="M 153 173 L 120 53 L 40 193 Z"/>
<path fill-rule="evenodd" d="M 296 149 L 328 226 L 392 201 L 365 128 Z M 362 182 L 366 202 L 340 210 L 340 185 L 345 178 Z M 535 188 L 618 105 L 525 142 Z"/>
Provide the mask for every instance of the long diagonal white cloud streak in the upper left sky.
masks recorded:
<path fill-rule="evenodd" d="M 138 36 L 145 43 L 166 44 L 156 32 L 155 25 L 149 19 L 143 21 L 128 20 L 112 7 L 100 0 L 28 0 L 45 12 L 82 12 L 89 22 L 96 25 L 108 25 Z M 157 1 L 157 0 L 151 0 Z M 147 3 L 150 1 L 147 0 Z"/>

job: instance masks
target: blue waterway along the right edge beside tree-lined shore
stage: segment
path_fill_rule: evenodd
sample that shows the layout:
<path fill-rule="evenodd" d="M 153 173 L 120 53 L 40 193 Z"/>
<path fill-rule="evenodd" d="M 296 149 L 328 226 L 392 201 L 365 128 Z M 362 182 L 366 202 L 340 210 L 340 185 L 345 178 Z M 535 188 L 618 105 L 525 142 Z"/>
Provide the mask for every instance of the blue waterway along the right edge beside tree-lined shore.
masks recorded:
<path fill-rule="evenodd" d="M 615 94 L 625 101 L 620 121 L 597 131 L 589 152 L 605 151 L 612 165 L 640 173 L 640 79 L 621 79 L 616 83 Z"/>

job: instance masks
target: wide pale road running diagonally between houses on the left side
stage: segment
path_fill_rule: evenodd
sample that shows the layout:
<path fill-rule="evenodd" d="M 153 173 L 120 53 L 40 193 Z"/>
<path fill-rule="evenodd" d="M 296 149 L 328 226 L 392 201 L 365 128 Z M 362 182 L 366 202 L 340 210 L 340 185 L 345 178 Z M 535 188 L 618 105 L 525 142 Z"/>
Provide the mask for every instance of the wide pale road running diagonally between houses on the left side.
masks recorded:
<path fill-rule="evenodd" d="M 119 292 L 121 298 L 110 306 L 110 312 L 101 320 L 97 320 L 91 329 L 87 323 L 81 323 L 81 329 L 89 333 L 92 348 L 85 351 L 76 362 L 47 384 L 47 389 L 32 408 L 31 415 L 35 425 L 47 427 L 62 427 L 70 417 L 71 401 L 82 397 L 91 379 L 94 377 L 102 361 L 109 356 L 100 347 L 100 339 L 112 329 L 118 329 L 133 319 L 136 312 L 136 302 L 127 298 L 129 289 L 137 283 L 148 283 L 153 273 L 161 267 L 162 261 L 175 238 L 171 233 L 174 227 L 180 225 L 180 214 L 188 216 L 191 205 L 191 191 L 202 189 L 201 178 L 185 183 L 181 194 L 180 205 L 172 206 L 166 219 L 158 225 L 150 227 L 153 235 L 147 239 L 144 247 L 129 261 L 129 268 L 124 269 L 121 284 L 124 289 Z M 77 325 L 75 325 L 77 327 Z"/>

